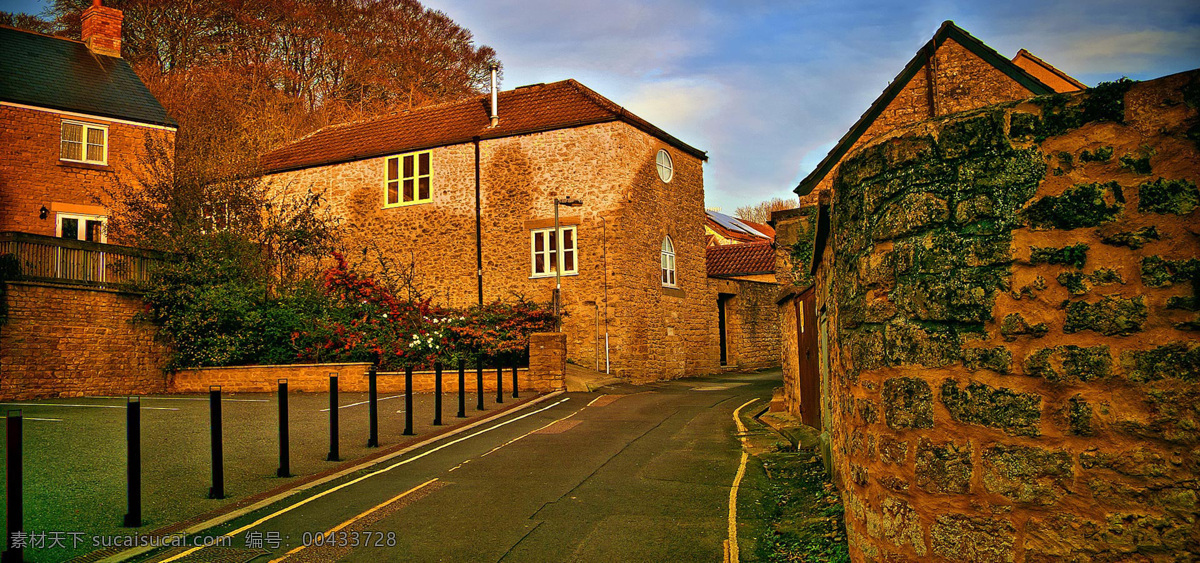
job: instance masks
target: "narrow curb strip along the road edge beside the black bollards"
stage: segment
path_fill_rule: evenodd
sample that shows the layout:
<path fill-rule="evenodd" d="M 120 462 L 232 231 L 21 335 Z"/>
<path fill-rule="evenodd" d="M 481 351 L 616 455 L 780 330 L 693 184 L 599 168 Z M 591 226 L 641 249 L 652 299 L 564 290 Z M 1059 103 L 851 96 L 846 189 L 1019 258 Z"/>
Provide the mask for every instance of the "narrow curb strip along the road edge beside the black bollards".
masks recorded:
<path fill-rule="evenodd" d="M 299 480 L 296 480 L 294 483 L 289 483 L 287 485 L 281 485 L 278 487 L 275 487 L 275 489 L 271 489 L 271 490 L 268 490 L 268 491 L 264 491 L 264 492 L 259 492 L 257 495 L 251 495 L 251 496 L 248 496 L 246 498 L 242 498 L 240 501 L 230 503 L 230 504 L 228 504 L 226 507 L 221 507 L 221 508 L 218 508 L 216 510 L 211 510 L 209 513 L 200 514 L 198 516 L 193 516 L 193 517 L 184 520 L 181 522 L 175 522 L 175 523 L 164 526 L 162 528 L 155 529 L 152 532 L 148 532 L 145 534 L 139 534 L 139 535 L 162 537 L 162 535 L 172 535 L 172 534 L 182 534 L 182 535 L 197 534 L 197 533 L 203 532 L 205 529 L 209 529 L 209 528 L 212 528 L 212 527 L 216 527 L 216 526 L 221 526 L 221 525 L 223 525 L 226 522 L 229 522 L 229 521 L 232 521 L 234 519 L 245 516 L 246 514 L 253 513 L 253 511 L 259 510 L 262 508 L 266 508 L 266 507 L 269 507 L 271 504 L 275 504 L 275 503 L 277 503 L 280 501 L 283 501 L 283 499 L 286 499 L 286 498 L 288 498 L 288 497 L 290 497 L 293 495 L 307 491 L 310 489 L 318 487 L 320 485 L 324 485 L 326 483 L 341 479 L 342 477 L 346 477 L 346 475 L 348 475 L 350 473 L 358 472 L 358 471 L 364 469 L 366 467 L 371 467 L 371 466 L 382 463 L 384 461 L 391 460 L 394 457 L 398 457 L 401 455 L 408 454 L 409 451 L 416 450 L 419 448 L 424 448 L 424 447 L 430 445 L 430 444 L 432 444 L 432 443 L 434 443 L 437 441 L 440 441 L 443 438 L 448 438 L 448 437 L 451 437 L 451 436 L 460 435 L 462 432 L 466 432 L 468 430 L 475 429 L 475 427 L 478 427 L 478 426 L 480 426 L 480 425 L 482 425 L 485 423 L 490 423 L 490 421 L 492 421 L 492 420 L 494 420 L 497 418 L 500 418 L 503 415 L 506 415 L 506 414 L 510 414 L 510 413 L 515 413 L 515 412 L 522 411 L 524 408 L 532 407 L 534 405 L 538 405 L 540 402 L 554 399 L 554 397 L 557 397 L 559 395 L 563 395 L 564 393 L 566 393 L 566 391 L 565 390 L 557 390 L 557 391 L 551 391 L 551 393 L 545 393 L 545 394 L 538 395 L 536 397 L 529 399 L 527 401 L 510 405 L 510 406 L 504 407 L 504 408 L 502 408 L 499 411 L 493 411 L 493 412 L 488 413 L 487 415 L 485 415 L 482 418 L 479 418 L 476 420 L 473 420 L 473 421 L 470 421 L 468 424 L 462 424 L 462 425 L 458 425 L 458 426 L 448 426 L 448 427 L 445 427 L 445 429 L 443 429 L 440 431 L 437 431 L 437 432 L 434 432 L 434 433 L 432 433 L 432 435 L 430 435 L 430 436 L 427 436 L 427 437 L 425 437 L 425 438 L 422 438 L 420 441 L 402 442 L 402 443 L 398 443 L 398 444 L 390 445 L 390 447 L 388 447 L 385 449 L 380 449 L 379 451 L 376 451 L 374 454 L 371 454 L 371 455 L 368 455 L 366 457 L 360 457 L 358 460 L 348 461 L 348 462 L 342 463 L 342 465 L 340 465 L 337 467 L 332 467 L 330 469 L 326 469 L 326 471 L 324 471 L 322 473 L 314 473 L 314 474 L 311 474 L 311 475 L 306 475 L 306 477 L 300 478 Z M 74 563 L 84 563 L 84 562 L 116 563 L 116 562 L 128 561 L 128 559 L 131 559 L 133 557 L 138 557 L 138 556 L 149 553 L 151 551 L 158 550 L 158 549 L 161 549 L 161 546 L 133 547 L 133 549 L 128 549 L 128 550 L 124 550 L 124 551 L 115 551 L 113 549 L 109 549 L 109 550 L 101 550 L 101 551 L 96 551 L 96 552 L 92 552 L 92 553 L 88 553 L 88 555 L 77 557 L 77 558 L 71 559 L 71 561 L 74 562 Z"/>

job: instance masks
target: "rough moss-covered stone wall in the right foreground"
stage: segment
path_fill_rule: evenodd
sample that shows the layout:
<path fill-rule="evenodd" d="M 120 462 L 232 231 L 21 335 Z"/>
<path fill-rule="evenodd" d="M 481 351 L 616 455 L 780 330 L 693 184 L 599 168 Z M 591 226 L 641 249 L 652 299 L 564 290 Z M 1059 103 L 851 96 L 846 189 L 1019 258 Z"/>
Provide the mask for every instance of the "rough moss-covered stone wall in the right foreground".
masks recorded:
<path fill-rule="evenodd" d="M 844 161 L 817 306 L 854 561 L 1200 551 L 1198 106 L 1193 71 Z"/>

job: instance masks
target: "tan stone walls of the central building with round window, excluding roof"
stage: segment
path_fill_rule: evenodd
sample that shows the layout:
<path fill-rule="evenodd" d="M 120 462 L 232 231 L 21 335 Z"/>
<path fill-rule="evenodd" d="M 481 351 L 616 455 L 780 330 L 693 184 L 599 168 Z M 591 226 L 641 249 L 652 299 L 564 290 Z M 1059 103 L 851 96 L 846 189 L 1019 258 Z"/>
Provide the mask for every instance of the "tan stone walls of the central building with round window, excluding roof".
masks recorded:
<path fill-rule="evenodd" d="M 674 161 L 670 184 L 655 172 L 660 148 Z M 607 321 L 618 376 L 641 381 L 716 369 L 700 160 L 623 122 L 482 140 L 480 155 L 485 301 L 551 301 L 554 278 L 530 277 L 529 232 L 553 226 L 553 198 L 576 197 L 582 208 L 560 209 L 560 223 L 578 226 L 578 275 L 562 281 L 571 361 L 604 369 Z M 348 227 L 349 248 L 374 246 L 410 264 L 434 303 L 475 304 L 474 145 L 433 149 L 428 204 L 384 209 L 385 162 L 368 158 L 270 179 L 280 190 L 323 193 Z M 667 234 L 679 280 L 672 291 L 659 282 Z"/>

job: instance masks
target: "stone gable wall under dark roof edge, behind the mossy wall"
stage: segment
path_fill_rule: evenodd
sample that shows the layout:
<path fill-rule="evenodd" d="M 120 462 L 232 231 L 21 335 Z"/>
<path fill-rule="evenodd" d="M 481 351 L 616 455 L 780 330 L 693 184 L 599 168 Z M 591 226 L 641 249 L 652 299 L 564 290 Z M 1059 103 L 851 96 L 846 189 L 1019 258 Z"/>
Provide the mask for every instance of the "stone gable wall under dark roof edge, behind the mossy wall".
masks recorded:
<path fill-rule="evenodd" d="M 930 72 L 932 68 L 932 72 Z M 932 80 L 930 76 L 932 74 Z M 916 124 L 937 115 L 949 115 L 994 103 L 1024 100 L 1033 92 L 1021 86 L 1007 74 L 988 64 L 953 38 L 947 38 L 907 84 L 896 94 L 892 103 L 854 142 L 846 152 L 858 148 L 896 127 Z M 846 157 L 842 157 L 845 161 Z M 840 166 L 841 161 L 839 161 Z M 838 166 L 826 174 L 802 204 L 815 203 L 821 190 L 833 186 Z"/>

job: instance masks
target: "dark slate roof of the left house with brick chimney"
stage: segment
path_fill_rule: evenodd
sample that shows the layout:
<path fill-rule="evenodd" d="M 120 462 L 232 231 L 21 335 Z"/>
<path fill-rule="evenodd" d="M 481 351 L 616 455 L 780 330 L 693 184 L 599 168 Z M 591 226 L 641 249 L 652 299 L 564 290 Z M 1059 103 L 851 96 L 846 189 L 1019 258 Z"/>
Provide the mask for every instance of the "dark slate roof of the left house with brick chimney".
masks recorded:
<path fill-rule="evenodd" d="M 120 56 L 0 25 L 0 101 L 178 127 Z"/>

